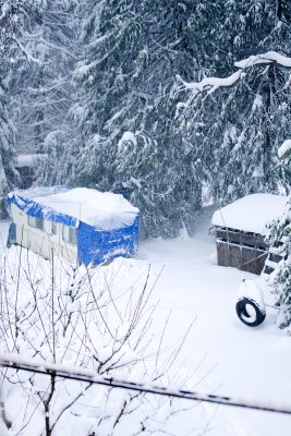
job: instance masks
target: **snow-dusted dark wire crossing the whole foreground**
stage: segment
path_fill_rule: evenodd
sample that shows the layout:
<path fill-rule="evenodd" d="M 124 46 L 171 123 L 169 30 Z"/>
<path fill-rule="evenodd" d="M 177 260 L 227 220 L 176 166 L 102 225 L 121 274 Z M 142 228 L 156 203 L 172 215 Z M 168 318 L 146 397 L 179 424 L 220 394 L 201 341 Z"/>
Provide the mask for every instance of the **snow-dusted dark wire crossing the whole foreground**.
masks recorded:
<path fill-rule="evenodd" d="M 171 387 L 162 387 L 151 384 L 140 384 L 130 380 L 118 379 L 114 377 L 104 377 L 90 370 L 82 367 L 68 367 L 66 365 L 62 364 L 48 364 L 41 361 L 36 362 L 35 359 L 25 359 L 20 356 L 19 354 L 0 354 L 0 366 L 50 376 L 54 375 L 57 377 L 65 379 L 85 382 L 112 388 L 121 388 L 146 393 L 181 398 L 184 400 L 206 401 L 216 404 L 233 405 L 266 412 L 291 414 L 290 404 L 276 405 L 271 402 L 255 402 L 245 399 L 238 399 L 211 393 L 199 393 L 191 390 L 173 389 Z"/>

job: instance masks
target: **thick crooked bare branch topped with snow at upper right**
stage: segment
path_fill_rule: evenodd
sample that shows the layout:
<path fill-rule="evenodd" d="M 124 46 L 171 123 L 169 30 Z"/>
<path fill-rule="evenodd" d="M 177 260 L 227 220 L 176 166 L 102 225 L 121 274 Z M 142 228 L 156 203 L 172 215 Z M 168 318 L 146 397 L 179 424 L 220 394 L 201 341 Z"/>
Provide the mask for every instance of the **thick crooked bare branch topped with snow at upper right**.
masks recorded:
<path fill-rule="evenodd" d="M 207 92 L 207 94 L 214 93 L 218 88 L 230 87 L 235 85 L 242 77 L 245 76 L 246 71 L 257 65 L 270 65 L 277 64 L 282 68 L 291 69 L 291 58 L 279 55 L 276 51 L 267 51 L 263 55 L 250 56 L 239 62 L 234 62 L 234 66 L 239 70 L 228 77 L 204 77 L 201 82 L 187 83 L 178 75 L 178 80 L 182 82 L 185 89 L 190 89 L 194 95 Z"/>

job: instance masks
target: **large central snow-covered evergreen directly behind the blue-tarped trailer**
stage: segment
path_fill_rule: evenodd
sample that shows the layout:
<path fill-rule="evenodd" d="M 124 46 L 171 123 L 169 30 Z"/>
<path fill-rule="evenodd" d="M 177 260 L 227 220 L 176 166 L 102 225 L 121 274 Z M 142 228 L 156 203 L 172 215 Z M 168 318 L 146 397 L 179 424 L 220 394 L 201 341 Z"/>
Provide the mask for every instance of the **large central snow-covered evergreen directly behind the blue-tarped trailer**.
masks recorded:
<path fill-rule="evenodd" d="M 111 0 L 95 5 L 84 29 L 87 49 L 75 72 L 84 92 L 76 183 L 131 183 L 145 235 L 191 231 L 201 206 L 197 149 L 175 121 L 175 76 L 202 73 L 207 14 L 204 2 Z"/>

